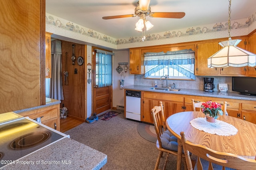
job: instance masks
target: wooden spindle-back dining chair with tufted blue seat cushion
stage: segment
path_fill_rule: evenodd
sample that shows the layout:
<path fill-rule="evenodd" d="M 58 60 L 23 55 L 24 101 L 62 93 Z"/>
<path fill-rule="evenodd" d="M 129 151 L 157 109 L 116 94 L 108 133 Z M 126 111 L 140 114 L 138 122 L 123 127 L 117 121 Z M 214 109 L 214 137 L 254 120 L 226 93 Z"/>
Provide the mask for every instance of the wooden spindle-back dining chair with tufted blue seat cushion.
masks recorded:
<path fill-rule="evenodd" d="M 163 170 L 165 170 L 169 154 L 173 154 L 176 156 L 178 155 L 178 139 L 175 136 L 173 136 L 169 132 L 169 130 L 166 129 L 166 119 L 164 117 L 162 101 L 160 101 L 159 104 L 159 106 L 155 106 L 153 109 L 151 109 L 151 115 L 154 121 L 154 127 L 157 134 L 156 148 L 159 150 L 154 170 L 158 169 L 160 159 L 163 156 L 164 152 L 167 153 L 163 167 Z M 184 166 L 186 168 L 184 153 L 182 153 L 182 158 L 184 161 Z"/>

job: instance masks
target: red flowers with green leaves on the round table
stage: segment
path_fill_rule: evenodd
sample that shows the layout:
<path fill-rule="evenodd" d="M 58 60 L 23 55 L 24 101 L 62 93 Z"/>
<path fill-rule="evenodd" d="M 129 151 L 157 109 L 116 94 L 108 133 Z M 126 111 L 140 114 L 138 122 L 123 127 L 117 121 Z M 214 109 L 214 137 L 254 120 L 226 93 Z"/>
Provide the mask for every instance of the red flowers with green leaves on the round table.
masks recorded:
<path fill-rule="evenodd" d="M 208 114 L 210 117 L 214 117 L 214 119 L 217 119 L 219 115 L 223 115 L 221 104 L 216 102 L 207 101 L 206 103 L 202 103 L 201 108 L 205 115 Z"/>

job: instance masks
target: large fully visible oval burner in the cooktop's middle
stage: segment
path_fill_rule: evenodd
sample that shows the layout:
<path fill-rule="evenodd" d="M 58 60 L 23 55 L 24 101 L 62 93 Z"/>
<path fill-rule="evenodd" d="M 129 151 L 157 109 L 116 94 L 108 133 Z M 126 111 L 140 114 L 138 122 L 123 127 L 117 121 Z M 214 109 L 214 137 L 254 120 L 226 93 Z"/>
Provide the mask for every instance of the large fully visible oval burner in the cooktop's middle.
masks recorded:
<path fill-rule="evenodd" d="M 32 132 L 16 138 L 12 144 L 13 149 L 25 149 L 36 146 L 50 137 L 50 132 Z"/>

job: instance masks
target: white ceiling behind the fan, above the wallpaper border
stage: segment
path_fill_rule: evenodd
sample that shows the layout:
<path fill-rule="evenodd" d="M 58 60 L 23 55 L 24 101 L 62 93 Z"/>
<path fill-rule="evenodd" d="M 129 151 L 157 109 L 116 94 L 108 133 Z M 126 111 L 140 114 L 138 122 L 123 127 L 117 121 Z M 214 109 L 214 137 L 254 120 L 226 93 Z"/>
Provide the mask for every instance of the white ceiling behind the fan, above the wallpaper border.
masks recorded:
<path fill-rule="evenodd" d="M 138 0 L 46 0 L 46 12 L 113 38 L 141 36 L 139 17 L 103 20 L 103 16 L 134 14 Z M 228 0 L 151 0 L 151 12 L 185 12 L 181 19 L 146 17 L 154 27 L 146 34 L 228 21 Z M 256 0 L 232 0 L 231 20 L 248 18 Z"/>

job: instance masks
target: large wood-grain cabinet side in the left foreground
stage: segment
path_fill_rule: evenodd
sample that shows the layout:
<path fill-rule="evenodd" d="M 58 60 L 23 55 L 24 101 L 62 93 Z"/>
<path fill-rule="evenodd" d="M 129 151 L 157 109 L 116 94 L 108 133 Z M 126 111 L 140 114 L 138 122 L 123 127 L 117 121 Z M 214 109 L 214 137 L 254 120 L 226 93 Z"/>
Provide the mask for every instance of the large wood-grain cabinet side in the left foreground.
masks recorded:
<path fill-rule="evenodd" d="M 0 6 L 0 113 L 45 105 L 45 0 Z"/>

